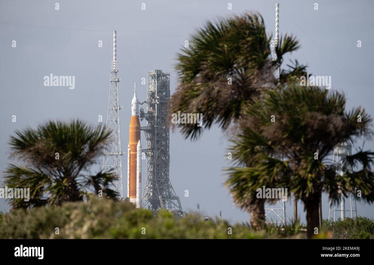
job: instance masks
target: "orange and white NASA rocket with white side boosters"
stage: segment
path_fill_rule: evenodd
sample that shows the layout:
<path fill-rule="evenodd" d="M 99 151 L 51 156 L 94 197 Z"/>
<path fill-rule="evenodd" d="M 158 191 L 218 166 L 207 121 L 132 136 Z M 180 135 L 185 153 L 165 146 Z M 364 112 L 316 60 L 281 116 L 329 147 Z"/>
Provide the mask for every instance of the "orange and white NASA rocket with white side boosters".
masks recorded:
<path fill-rule="evenodd" d="M 131 101 L 131 120 L 129 128 L 129 145 L 127 147 L 127 197 L 137 208 L 141 207 L 141 143 L 139 101 L 135 84 L 134 98 Z"/>

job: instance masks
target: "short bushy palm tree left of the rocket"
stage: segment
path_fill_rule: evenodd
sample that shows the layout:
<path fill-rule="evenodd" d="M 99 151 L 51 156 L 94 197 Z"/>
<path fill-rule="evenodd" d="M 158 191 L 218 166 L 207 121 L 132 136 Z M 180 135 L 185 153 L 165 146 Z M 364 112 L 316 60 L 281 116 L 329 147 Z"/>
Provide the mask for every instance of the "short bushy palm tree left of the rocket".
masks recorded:
<path fill-rule="evenodd" d="M 98 195 L 100 190 L 103 196 L 116 197 L 116 192 L 108 188 L 114 180 L 113 174 L 89 172 L 108 137 L 101 126 L 93 128 L 78 120 L 49 121 L 37 129 L 27 128 L 15 134 L 10 137 L 11 157 L 22 161 L 22 165 L 8 165 L 5 185 L 30 188 L 31 198 L 12 199 L 12 207 L 82 201 L 90 194 Z"/>

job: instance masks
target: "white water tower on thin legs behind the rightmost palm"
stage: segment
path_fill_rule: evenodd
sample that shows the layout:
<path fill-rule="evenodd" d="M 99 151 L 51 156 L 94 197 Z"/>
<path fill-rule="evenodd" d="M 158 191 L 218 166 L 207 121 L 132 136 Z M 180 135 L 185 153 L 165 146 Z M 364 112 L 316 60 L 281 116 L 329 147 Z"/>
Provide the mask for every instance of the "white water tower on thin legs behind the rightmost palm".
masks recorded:
<path fill-rule="evenodd" d="M 352 155 L 352 145 L 349 143 L 342 143 L 339 144 L 334 148 L 334 154 L 332 156 L 332 167 L 334 167 L 336 175 L 340 174 L 343 176 L 345 170 L 351 172 L 352 168 L 348 165 L 348 168 L 344 168 L 344 159 L 346 156 Z M 333 203 L 330 199 L 329 202 L 329 212 L 328 212 L 328 219 L 335 221 L 336 212 L 340 211 L 340 218 L 343 220 L 345 218 L 346 212 L 350 213 L 350 217 L 357 217 L 357 207 L 356 207 L 356 196 L 353 193 L 349 194 L 349 201 L 350 201 L 350 208 L 346 210 L 346 198 L 342 195 L 340 197 L 340 210 L 338 210 L 338 202 Z"/>

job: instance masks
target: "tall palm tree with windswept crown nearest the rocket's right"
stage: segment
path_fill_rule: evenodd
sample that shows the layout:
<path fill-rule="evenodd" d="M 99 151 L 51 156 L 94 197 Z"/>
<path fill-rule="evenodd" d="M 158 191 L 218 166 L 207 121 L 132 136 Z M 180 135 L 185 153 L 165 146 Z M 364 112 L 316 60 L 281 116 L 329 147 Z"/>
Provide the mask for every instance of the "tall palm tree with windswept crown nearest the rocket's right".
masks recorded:
<path fill-rule="evenodd" d="M 203 127 L 176 125 L 186 138 L 196 140 L 213 124 L 223 130 L 230 124 L 236 126 L 245 106 L 277 82 L 271 71 L 274 63 L 270 58 L 271 39 L 262 16 L 255 13 L 208 22 L 191 36 L 189 47 L 178 54 L 176 68 L 180 83 L 171 98 L 171 113 L 203 113 L 204 121 Z M 295 37 L 281 37 L 279 63 L 283 63 L 287 52 L 299 47 Z M 306 66 L 297 61 L 288 67 L 281 71 L 283 84 L 295 82 L 306 74 Z M 252 225 L 260 227 L 265 219 L 263 203 L 247 206 L 246 209 L 252 209 Z"/>

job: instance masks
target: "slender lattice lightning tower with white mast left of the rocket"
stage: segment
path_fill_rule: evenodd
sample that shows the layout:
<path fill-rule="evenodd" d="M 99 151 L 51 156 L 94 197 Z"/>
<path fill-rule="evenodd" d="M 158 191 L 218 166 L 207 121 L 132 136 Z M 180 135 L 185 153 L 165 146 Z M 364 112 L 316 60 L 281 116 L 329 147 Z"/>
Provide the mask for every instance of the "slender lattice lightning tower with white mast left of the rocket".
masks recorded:
<path fill-rule="evenodd" d="M 112 170 L 117 176 L 110 189 L 117 192 L 117 198 L 123 198 L 122 192 L 122 160 L 121 156 L 121 133 L 119 122 L 119 110 L 122 106 L 118 103 L 118 82 L 122 79 L 117 77 L 117 32 L 113 31 L 113 61 L 111 62 L 110 71 L 110 88 L 109 88 L 109 102 L 107 114 L 107 133 L 109 137 L 105 141 L 104 161 L 102 164 L 102 172 Z"/>

